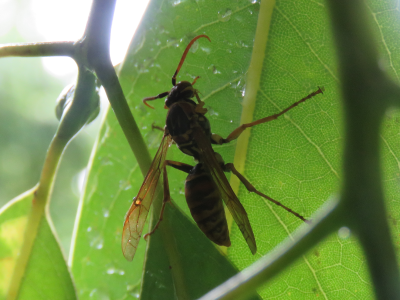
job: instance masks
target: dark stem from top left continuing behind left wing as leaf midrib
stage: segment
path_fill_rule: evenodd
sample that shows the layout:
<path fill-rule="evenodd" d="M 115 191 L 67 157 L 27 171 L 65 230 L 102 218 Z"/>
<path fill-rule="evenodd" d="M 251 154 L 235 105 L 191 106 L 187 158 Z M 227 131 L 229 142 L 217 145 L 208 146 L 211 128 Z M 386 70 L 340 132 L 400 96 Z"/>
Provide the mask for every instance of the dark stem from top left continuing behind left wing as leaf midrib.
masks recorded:
<path fill-rule="evenodd" d="M 114 6 L 115 0 L 97 0 L 93 3 L 84 42 L 87 43 L 88 47 L 87 57 L 89 59 L 89 64 L 96 71 L 97 77 L 104 86 L 111 107 L 136 157 L 142 174 L 145 176 L 151 165 L 151 157 L 132 116 L 128 103 L 126 102 L 109 55 L 108 43 Z M 162 193 L 158 192 L 157 195 L 159 196 L 154 199 L 151 215 L 151 224 L 153 226 L 158 221 L 162 206 Z M 174 242 L 174 232 L 166 222 L 161 222 L 159 230 L 164 239 L 168 258 L 171 264 L 174 265 L 171 272 L 176 293 L 181 299 L 185 299 L 187 298 L 187 291 L 184 284 L 180 257 L 178 256 L 179 252 L 176 251 L 177 245 Z"/>

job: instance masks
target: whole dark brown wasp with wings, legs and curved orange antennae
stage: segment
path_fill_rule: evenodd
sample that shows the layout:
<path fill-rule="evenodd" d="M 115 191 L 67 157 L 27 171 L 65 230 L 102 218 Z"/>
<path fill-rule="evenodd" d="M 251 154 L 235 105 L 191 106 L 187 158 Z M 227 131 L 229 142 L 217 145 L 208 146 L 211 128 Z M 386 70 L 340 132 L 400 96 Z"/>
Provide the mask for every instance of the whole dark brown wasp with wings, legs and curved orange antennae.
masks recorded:
<path fill-rule="evenodd" d="M 222 145 L 224 143 L 229 143 L 238 138 L 246 128 L 275 120 L 298 104 L 322 93 L 323 89 L 319 88 L 317 91 L 295 102 L 280 113 L 251 123 L 242 124 L 224 139 L 217 134 L 211 133 L 210 123 L 205 117 L 207 109 L 204 108 L 204 102 L 200 100 L 197 90 L 193 88 L 193 85 L 199 77 L 196 77 L 192 83 L 188 81 L 176 83 L 176 76 L 190 47 L 197 39 L 202 37 L 210 41 L 206 35 L 199 35 L 191 40 L 182 55 L 178 68 L 172 76 L 172 89 L 155 97 L 143 99 L 144 104 L 153 108 L 147 101 L 166 97 L 165 108 L 168 109 L 168 113 L 161 145 L 140 187 L 139 193 L 133 198 L 133 203 L 125 217 L 122 233 L 122 251 L 127 260 L 132 260 L 135 255 L 136 247 L 139 243 L 161 174 L 163 174 L 164 178 L 163 206 L 160 219 L 150 234 L 158 227 L 162 219 L 164 207 L 166 203 L 170 201 L 167 166 L 188 173 L 185 183 L 185 196 L 191 214 L 199 228 L 217 245 L 227 247 L 231 245 L 222 199 L 232 214 L 236 224 L 239 226 L 251 252 L 254 254 L 257 251 L 256 241 L 247 213 L 233 192 L 224 172 L 232 172 L 236 175 L 249 192 L 254 192 L 274 202 L 301 220 L 307 221 L 290 208 L 256 190 L 255 187 L 235 169 L 232 163 L 225 164 L 221 155 L 214 152 L 211 144 Z M 197 100 L 197 103 L 193 101 L 193 98 Z M 197 162 L 194 167 L 181 162 L 166 160 L 167 150 L 172 141 L 176 143 L 183 153 L 194 157 Z"/>

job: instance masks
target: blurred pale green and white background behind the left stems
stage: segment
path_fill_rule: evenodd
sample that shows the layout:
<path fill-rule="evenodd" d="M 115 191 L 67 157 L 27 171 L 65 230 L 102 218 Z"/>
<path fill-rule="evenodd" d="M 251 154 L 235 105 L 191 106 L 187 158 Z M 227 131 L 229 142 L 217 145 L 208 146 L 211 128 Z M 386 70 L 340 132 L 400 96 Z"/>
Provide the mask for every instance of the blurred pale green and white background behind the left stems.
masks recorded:
<path fill-rule="evenodd" d="M 90 0 L 0 0 L 0 43 L 68 41 L 85 29 Z M 121 62 L 148 0 L 118 0 L 111 33 L 111 57 Z M 0 59 L 0 207 L 39 180 L 47 148 L 57 129 L 55 101 L 75 81 L 70 58 Z M 104 93 L 103 93 L 104 95 Z M 107 100 L 102 97 L 102 112 Z M 84 128 L 64 153 L 50 210 L 68 255 L 85 168 L 101 116 Z M 21 233 L 22 234 L 22 233 Z"/>

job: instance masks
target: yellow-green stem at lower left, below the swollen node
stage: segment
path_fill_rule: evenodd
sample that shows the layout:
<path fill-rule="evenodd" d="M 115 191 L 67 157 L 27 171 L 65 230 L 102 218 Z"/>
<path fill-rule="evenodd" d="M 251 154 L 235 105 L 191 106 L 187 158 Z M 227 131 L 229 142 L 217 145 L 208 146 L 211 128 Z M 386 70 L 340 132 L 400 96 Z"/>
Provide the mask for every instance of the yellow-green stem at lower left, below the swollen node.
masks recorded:
<path fill-rule="evenodd" d="M 22 251 L 16 261 L 8 290 L 7 300 L 14 300 L 18 297 L 27 264 L 32 253 L 33 244 L 36 240 L 39 225 L 43 220 L 44 213 L 48 213 L 48 203 L 54 184 L 55 174 L 67 143 L 67 140 L 54 136 L 50 144 L 40 181 L 32 201 L 32 208 L 28 215 L 23 245 L 21 247 Z"/>

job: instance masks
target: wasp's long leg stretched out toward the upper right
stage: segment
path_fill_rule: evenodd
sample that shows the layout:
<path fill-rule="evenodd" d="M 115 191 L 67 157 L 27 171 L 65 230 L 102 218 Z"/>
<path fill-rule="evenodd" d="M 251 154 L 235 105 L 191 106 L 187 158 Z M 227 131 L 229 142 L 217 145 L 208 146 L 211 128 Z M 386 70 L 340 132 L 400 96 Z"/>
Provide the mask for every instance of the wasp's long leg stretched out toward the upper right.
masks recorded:
<path fill-rule="evenodd" d="M 246 124 L 242 124 L 240 125 L 238 128 L 236 128 L 234 131 L 231 132 L 231 134 L 228 135 L 228 137 L 226 139 L 222 138 L 221 136 L 217 135 L 217 134 L 213 134 L 211 139 L 212 139 L 212 143 L 213 144 L 218 144 L 218 145 L 222 145 L 225 143 L 229 143 L 235 139 L 237 139 L 239 137 L 239 135 L 246 129 L 249 127 L 253 127 L 262 123 L 267 123 L 269 121 L 273 121 L 276 120 L 278 117 L 280 117 L 281 115 L 283 115 L 284 113 L 288 112 L 289 110 L 291 110 L 292 108 L 296 107 L 297 105 L 299 105 L 302 102 L 305 102 L 307 99 L 310 99 L 312 97 L 314 97 L 315 95 L 321 94 L 323 93 L 325 89 L 323 87 L 320 87 L 317 91 L 309 94 L 308 96 L 304 97 L 303 99 L 293 103 L 292 105 L 290 105 L 288 108 L 282 110 L 280 113 L 274 114 L 272 116 L 268 116 L 262 119 L 259 119 L 257 121 L 251 122 L 251 123 L 246 123 Z"/>

